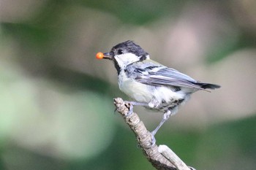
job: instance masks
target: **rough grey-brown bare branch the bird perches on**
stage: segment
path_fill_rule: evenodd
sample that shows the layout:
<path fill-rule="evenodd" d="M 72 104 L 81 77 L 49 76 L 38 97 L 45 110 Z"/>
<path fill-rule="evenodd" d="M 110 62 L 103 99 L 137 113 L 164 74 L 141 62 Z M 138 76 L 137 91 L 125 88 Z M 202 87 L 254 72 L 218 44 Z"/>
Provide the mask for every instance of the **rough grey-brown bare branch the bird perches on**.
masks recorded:
<path fill-rule="evenodd" d="M 150 161 L 156 169 L 195 170 L 186 166 L 186 164 L 167 146 L 160 145 L 158 147 L 157 144 L 151 144 L 151 134 L 140 120 L 140 117 L 138 117 L 135 112 L 127 116 L 130 107 L 129 102 L 123 101 L 122 98 L 114 98 L 114 104 L 116 105 L 116 110 L 124 117 L 125 123 L 127 123 L 129 128 L 135 133 L 144 155 L 146 155 L 148 161 Z"/>

